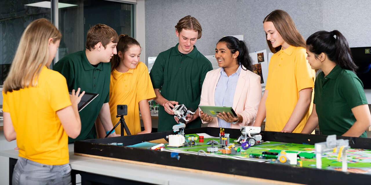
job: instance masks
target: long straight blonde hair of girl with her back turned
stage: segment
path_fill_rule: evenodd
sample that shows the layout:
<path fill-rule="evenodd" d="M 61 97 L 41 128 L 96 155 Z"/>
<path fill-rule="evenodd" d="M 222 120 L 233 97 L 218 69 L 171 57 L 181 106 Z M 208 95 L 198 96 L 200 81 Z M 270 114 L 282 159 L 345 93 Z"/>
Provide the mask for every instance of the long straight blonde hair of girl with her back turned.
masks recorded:
<path fill-rule="evenodd" d="M 53 38 L 55 43 L 62 34 L 47 19 L 34 20 L 26 27 L 4 81 L 5 93 L 37 85 L 39 74 L 49 59 L 49 38 Z"/>

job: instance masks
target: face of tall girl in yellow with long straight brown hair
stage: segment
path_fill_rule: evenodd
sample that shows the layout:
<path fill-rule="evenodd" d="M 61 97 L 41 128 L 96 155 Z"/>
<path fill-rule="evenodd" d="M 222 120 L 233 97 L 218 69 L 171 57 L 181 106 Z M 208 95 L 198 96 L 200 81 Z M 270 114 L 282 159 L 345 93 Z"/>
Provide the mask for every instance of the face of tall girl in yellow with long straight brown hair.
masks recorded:
<path fill-rule="evenodd" d="M 283 49 L 286 49 L 289 47 L 289 44 L 283 40 L 281 34 L 278 33 L 278 31 L 275 28 L 275 25 L 271 21 L 266 21 L 263 24 L 264 31 L 267 36 L 267 40 L 272 43 L 273 47 L 282 46 Z"/>

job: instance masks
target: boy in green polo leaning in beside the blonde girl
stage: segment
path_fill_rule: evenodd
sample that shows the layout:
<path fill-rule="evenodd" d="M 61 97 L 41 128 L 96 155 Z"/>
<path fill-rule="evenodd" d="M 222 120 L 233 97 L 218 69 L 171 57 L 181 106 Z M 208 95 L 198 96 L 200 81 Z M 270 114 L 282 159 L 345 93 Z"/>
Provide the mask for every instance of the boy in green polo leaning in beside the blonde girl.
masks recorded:
<path fill-rule="evenodd" d="M 96 24 L 86 35 L 85 50 L 63 57 L 53 67 L 53 70 L 66 78 L 69 91 L 80 87 L 81 91 L 99 94 L 79 112 L 81 133 L 76 139 L 68 138 L 69 143 L 96 138 L 94 122 L 98 115 L 105 131 L 112 129 L 108 105 L 111 74 L 109 61 L 117 53 L 117 42 L 118 35 L 114 29 L 105 24 Z M 109 136 L 116 136 L 116 133 Z"/>

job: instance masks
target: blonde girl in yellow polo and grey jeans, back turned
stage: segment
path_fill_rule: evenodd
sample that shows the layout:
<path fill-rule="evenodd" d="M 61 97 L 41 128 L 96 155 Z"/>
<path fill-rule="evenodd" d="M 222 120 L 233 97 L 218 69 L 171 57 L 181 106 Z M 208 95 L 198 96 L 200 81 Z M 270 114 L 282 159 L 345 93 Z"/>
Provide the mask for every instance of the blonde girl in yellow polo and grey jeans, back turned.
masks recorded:
<path fill-rule="evenodd" d="M 27 26 L 4 81 L 4 136 L 17 139 L 12 183 L 70 184 L 68 136 L 80 134 L 80 89 L 69 95 L 65 77 L 48 66 L 62 35 L 47 19 Z"/>

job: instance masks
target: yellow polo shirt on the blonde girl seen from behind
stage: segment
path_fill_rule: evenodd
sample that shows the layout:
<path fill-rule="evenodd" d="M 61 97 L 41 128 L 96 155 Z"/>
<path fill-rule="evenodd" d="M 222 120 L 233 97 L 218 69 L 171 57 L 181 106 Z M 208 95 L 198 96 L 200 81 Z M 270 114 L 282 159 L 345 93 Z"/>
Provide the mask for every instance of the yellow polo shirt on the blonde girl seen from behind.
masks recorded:
<path fill-rule="evenodd" d="M 19 157 L 47 165 L 69 162 L 68 136 L 56 114 L 69 105 L 66 78 L 45 66 L 36 87 L 3 91 L 3 111 L 10 112 Z"/>

